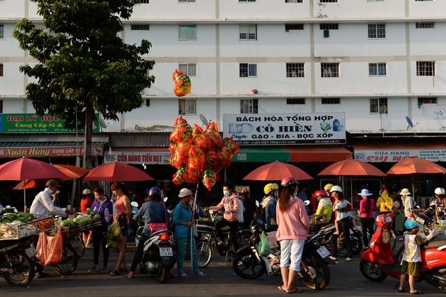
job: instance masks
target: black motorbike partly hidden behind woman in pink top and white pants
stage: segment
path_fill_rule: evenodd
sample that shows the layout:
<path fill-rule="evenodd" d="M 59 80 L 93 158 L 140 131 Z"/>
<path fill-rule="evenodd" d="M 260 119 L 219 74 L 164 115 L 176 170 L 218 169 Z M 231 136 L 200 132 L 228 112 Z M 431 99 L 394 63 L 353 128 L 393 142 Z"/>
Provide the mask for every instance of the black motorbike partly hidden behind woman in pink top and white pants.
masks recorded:
<path fill-rule="evenodd" d="M 265 224 L 260 219 L 253 220 L 251 224 L 252 236 L 249 245 L 238 249 L 233 259 L 233 270 L 241 278 L 254 280 L 263 273 L 280 275 L 280 249 L 272 248 L 268 257 L 259 255 L 259 242 Z M 300 262 L 298 278 L 310 289 L 321 290 L 330 282 L 330 269 L 328 264 L 336 264 L 330 259 L 330 252 L 323 245 L 323 234 L 314 234 L 305 241 Z"/>

